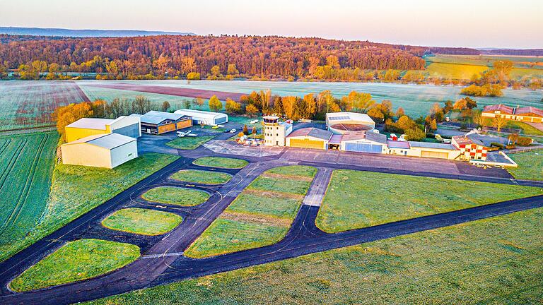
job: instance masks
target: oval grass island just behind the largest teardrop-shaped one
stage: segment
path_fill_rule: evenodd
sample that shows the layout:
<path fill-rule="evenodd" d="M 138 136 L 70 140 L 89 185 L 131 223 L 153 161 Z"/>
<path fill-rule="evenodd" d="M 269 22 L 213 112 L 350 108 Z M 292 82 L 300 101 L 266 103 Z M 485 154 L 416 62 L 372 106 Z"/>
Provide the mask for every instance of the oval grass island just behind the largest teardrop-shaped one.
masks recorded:
<path fill-rule="evenodd" d="M 143 235 L 161 235 L 170 232 L 182 221 L 182 217 L 158 210 L 125 208 L 117 210 L 102 221 L 108 229 Z"/>

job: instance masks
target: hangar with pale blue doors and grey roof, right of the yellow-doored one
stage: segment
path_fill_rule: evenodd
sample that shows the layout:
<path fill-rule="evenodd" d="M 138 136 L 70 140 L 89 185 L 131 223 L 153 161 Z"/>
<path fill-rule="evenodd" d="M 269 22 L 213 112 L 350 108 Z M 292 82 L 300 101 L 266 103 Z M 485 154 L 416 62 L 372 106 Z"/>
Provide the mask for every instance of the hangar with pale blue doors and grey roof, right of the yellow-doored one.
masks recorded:
<path fill-rule="evenodd" d="M 385 153 L 387 136 L 373 131 L 346 133 L 341 137 L 341 150 L 351 152 Z"/>

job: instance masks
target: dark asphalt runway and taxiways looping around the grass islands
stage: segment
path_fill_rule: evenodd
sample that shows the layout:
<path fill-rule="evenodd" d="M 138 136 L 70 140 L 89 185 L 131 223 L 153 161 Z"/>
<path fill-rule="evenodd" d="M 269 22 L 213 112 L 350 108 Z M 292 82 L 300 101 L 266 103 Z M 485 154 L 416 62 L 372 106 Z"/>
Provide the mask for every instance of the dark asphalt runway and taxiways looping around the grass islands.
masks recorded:
<path fill-rule="evenodd" d="M 226 136 L 224 136 L 226 137 Z M 296 153 L 292 153 L 296 152 Z M 298 153 L 299 152 L 299 153 Z M 188 277 L 197 277 L 219 273 L 225 270 L 233 270 L 249 265 L 258 265 L 270 261 L 279 261 L 285 258 L 292 258 L 308 253 L 336 249 L 342 246 L 361 244 L 367 241 L 395 237 L 402 234 L 419 232 L 426 229 L 455 225 L 457 223 L 478 220 L 495 215 L 513 213 L 518 210 L 537 208 L 543 206 L 543 196 L 523 198 L 516 201 L 484 205 L 467 210 L 458 210 L 450 213 L 419 217 L 401 222 L 393 222 L 386 225 L 356 229 L 338 234 L 326 234 L 315 227 L 315 217 L 318 213 L 318 203 L 322 200 L 322 194 L 326 189 L 332 169 L 352 168 L 354 165 L 337 164 L 315 161 L 315 152 L 286 151 L 281 152 L 283 157 L 244 157 L 250 161 L 250 165 L 240 171 L 225 170 L 234 174 L 227 184 L 217 187 L 194 186 L 198 189 L 208 191 L 213 196 L 202 205 L 192 208 L 167 207 L 168 211 L 184 216 L 182 224 L 169 234 L 156 239 L 141 239 L 143 256 L 125 268 L 116 270 L 110 274 L 95 277 L 91 280 L 76 282 L 58 287 L 51 287 L 33 292 L 12 294 L 6 289 L 8 282 L 28 268 L 33 263 L 45 257 L 66 241 L 87 238 L 89 236 L 103 236 L 106 239 L 112 238 L 107 230 L 98 229 L 100 220 L 118 208 L 133 205 L 148 205 L 150 208 L 158 208 L 156 205 L 146 203 L 139 196 L 151 187 L 162 185 L 178 185 L 168 179 L 170 174 L 179 169 L 197 168 L 191 165 L 192 159 L 204 155 L 218 155 L 216 152 L 206 148 L 198 148 L 191 151 L 177 151 L 183 158 L 173 162 L 164 169 L 144 179 L 139 184 L 132 186 L 126 191 L 107 201 L 98 208 L 79 217 L 69 225 L 62 227 L 57 232 L 50 234 L 44 239 L 17 253 L 15 256 L 0 263 L 0 283 L 3 287 L 0 297 L 1 304 L 69 304 L 76 301 L 97 299 L 112 294 L 132 291 L 153 285 L 160 285 L 167 282 L 174 282 Z M 232 157 L 231 155 L 224 155 Z M 305 157 L 300 157 L 305 156 Z M 332 160 L 333 161 L 333 160 Z M 293 225 L 283 241 L 272 246 L 262 247 L 230 253 L 213 258 L 191 259 L 182 256 L 187 246 L 199 237 L 204 229 L 213 222 L 218 215 L 243 191 L 259 174 L 267 169 L 281 165 L 305 164 L 319 168 L 308 197 L 300 208 Z M 423 167 L 426 170 L 431 167 Z M 524 184 L 543 186 L 542 182 L 536 181 L 515 181 L 513 179 L 499 177 L 477 177 L 466 174 L 447 174 L 443 172 L 417 172 L 413 169 L 390 169 L 385 167 L 365 167 L 357 165 L 356 169 L 373 170 L 378 172 L 390 172 L 394 174 L 411 174 L 421 177 L 443 177 L 449 179 L 465 179 L 470 181 L 491 181 L 505 184 Z M 217 169 L 218 170 L 218 169 Z M 100 231 L 103 230 L 103 231 Z M 122 234 L 121 234 L 122 235 Z M 132 241 L 136 238 L 134 234 L 125 234 L 118 237 Z"/>

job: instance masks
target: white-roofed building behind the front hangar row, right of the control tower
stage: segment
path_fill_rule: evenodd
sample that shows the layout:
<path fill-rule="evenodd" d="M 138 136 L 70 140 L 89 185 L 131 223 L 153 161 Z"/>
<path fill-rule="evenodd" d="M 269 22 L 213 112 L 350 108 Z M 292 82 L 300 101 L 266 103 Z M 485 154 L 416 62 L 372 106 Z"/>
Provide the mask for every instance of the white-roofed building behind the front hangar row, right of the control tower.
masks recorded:
<path fill-rule="evenodd" d="M 335 134 L 357 131 L 370 131 L 375 128 L 375 122 L 368 114 L 356 112 L 329 112 L 326 114 L 326 126 Z"/>

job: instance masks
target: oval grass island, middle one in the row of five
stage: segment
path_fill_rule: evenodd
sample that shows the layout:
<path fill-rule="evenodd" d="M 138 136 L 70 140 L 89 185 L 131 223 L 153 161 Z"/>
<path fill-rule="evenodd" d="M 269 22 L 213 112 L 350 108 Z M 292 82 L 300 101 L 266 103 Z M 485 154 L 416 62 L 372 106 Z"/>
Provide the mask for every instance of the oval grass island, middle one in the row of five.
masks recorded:
<path fill-rule="evenodd" d="M 209 193 L 196 189 L 184 189 L 175 186 L 159 186 L 146 191 L 141 198 L 156 203 L 192 206 L 204 203 Z"/>

